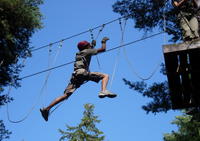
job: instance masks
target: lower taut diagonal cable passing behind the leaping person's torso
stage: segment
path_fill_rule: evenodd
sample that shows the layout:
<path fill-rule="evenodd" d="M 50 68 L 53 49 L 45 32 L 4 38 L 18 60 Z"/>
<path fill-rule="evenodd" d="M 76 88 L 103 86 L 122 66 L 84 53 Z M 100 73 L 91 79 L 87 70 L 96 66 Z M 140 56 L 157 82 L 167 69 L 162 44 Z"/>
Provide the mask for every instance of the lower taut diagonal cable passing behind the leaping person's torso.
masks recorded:
<path fill-rule="evenodd" d="M 132 41 L 132 42 L 129 42 L 129 43 L 126 43 L 126 44 L 117 46 L 117 47 L 113 47 L 113 48 L 108 49 L 107 51 L 102 52 L 102 53 L 110 52 L 110 51 L 116 50 L 116 49 L 118 49 L 118 48 L 122 48 L 122 47 L 124 47 L 124 46 L 128 46 L 128 45 L 131 45 L 131 44 L 134 44 L 134 43 L 137 43 L 137 42 L 140 42 L 140 41 L 149 39 L 149 38 L 153 38 L 153 37 L 158 36 L 158 35 L 163 34 L 163 33 L 165 33 L 165 32 L 162 31 L 162 32 L 159 32 L 159 33 L 156 33 L 156 34 L 152 34 L 152 35 L 150 35 L 150 36 L 143 37 L 143 38 L 141 38 L 141 39 L 138 39 L 138 40 L 135 40 L 135 41 Z M 63 66 L 70 65 L 70 64 L 72 64 L 72 63 L 74 63 L 74 62 L 75 62 L 75 61 L 67 62 L 67 63 L 61 64 L 61 65 L 58 65 L 58 66 L 56 66 L 56 67 L 52 67 L 52 68 L 50 68 L 50 69 L 45 69 L 45 70 L 42 70 L 42 71 L 39 71 L 39 72 L 30 74 L 30 75 L 27 75 L 27 76 L 23 76 L 23 77 L 21 77 L 21 78 L 19 78 L 19 79 L 22 80 L 22 79 L 29 78 L 29 77 L 32 77 L 32 76 L 35 76 L 35 75 L 39 75 L 39 74 L 41 74 L 41 73 L 48 72 L 48 71 L 50 71 L 50 70 L 54 70 L 54 69 L 57 69 L 57 68 L 61 68 L 61 67 L 63 67 Z"/>

